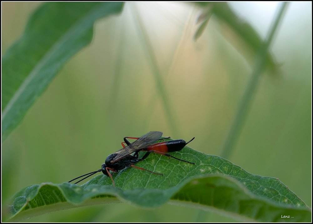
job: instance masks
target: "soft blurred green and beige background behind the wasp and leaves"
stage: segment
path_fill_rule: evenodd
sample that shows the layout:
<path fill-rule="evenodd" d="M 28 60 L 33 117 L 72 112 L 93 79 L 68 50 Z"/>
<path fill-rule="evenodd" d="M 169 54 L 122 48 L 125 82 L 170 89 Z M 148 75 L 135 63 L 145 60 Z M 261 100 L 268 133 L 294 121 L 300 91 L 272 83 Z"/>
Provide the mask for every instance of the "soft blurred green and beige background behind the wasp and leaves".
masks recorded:
<path fill-rule="evenodd" d="M 40 4 L 2 2 L 2 55 Z M 230 6 L 264 38 L 278 5 Z M 290 3 L 271 47 L 280 73 L 264 73 L 259 79 L 228 158 L 250 173 L 279 178 L 310 207 L 311 6 Z M 151 130 L 173 139 L 196 137 L 190 147 L 219 155 L 252 67 L 233 47 L 236 39 L 230 44 L 225 38 L 227 29 L 214 16 L 194 42 L 199 14 L 199 8 L 187 3 L 126 3 L 121 15 L 97 21 L 91 45 L 65 64 L 2 144 L 2 203 L 25 186 L 62 183 L 97 170 L 107 155 L 121 148 L 124 136 Z M 147 57 L 151 52 L 168 106 Z M 145 210 L 119 203 L 26 221 L 236 220 L 169 204 Z"/>

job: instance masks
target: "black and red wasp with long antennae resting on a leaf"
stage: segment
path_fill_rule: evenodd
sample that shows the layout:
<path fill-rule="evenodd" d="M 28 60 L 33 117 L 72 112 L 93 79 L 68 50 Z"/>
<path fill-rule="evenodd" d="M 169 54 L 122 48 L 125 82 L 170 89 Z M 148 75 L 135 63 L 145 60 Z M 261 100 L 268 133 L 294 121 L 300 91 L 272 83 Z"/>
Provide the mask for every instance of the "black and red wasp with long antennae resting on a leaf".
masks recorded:
<path fill-rule="evenodd" d="M 70 180 L 69 182 L 72 182 L 72 181 L 74 181 L 80 177 L 86 176 L 85 178 L 80 180 L 80 181 L 82 181 L 82 180 L 85 180 L 86 178 L 94 175 L 95 173 L 102 171 L 102 173 L 104 175 L 110 176 L 110 178 L 113 182 L 113 186 L 115 186 L 110 171 L 118 172 L 119 170 L 123 170 L 129 166 L 135 167 L 135 168 L 141 169 L 141 170 L 146 170 L 145 168 L 135 166 L 134 164 L 141 161 L 141 160 L 146 159 L 151 152 L 165 155 L 165 156 L 168 156 L 169 158 L 172 157 L 174 159 L 177 159 L 177 160 L 180 160 L 183 162 L 192 163 L 192 162 L 188 162 L 186 160 L 178 159 L 178 158 L 168 154 L 167 152 L 176 152 L 176 151 L 182 150 L 182 148 L 184 148 L 185 145 L 187 145 L 189 142 L 194 140 L 194 137 L 192 138 L 192 140 L 188 141 L 187 143 L 185 140 L 182 140 L 182 139 L 155 143 L 157 140 L 163 140 L 163 139 L 170 138 L 170 137 L 161 138 L 162 134 L 163 133 L 161 131 L 150 131 L 146 135 L 142 135 L 140 138 L 124 137 L 124 142 L 121 143 L 123 148 L 116 151 L 115 153 L 109 155 L 108 157 L 106 157 L 105 163 L 102 164 L 101 169 L 87 173 L 87 174 L 79 176 L 79 177 L 76 177 L 75 179 Z M 136 139 L 136 140 L 134 142 L 130 143 L 127 139 Z M 124 144 L 126 144 L 126 146 Z M 141 159 L 138 159 L 139 151 L 147 151 L 146 154 L 143 155 Z M 194 164 L 194 163 L 192 163 L 192 164 Z M 146 170 L 146 171 L 149 171 L 149 170 Z M 163 176 L 163 174 L 161 174 L 161 173 L 155 173 L 152 171 L 149 171 L 149 172 Z M 87 175 L 89 175 L 89 176 L 87 176 Z M 77 181 L 74 184 L 77 184 L 80 181 Z"/>

